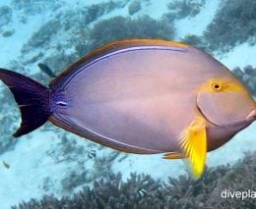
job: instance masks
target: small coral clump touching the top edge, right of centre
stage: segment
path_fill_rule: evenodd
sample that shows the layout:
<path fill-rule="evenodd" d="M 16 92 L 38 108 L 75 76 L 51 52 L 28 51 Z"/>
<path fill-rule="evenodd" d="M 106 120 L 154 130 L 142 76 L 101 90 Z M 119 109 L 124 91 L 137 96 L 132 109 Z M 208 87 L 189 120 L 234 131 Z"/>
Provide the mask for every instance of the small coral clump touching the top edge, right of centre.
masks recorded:
<path fill-rule="evenodd" d="M 172 15 L 176 19 L 183 19 L 187 16 L 196 16 L 204 5 L 205 0 L 175 0 L 168 3 L 167 8 L 171 11 L 168 13 L 169 16 Z"/>

